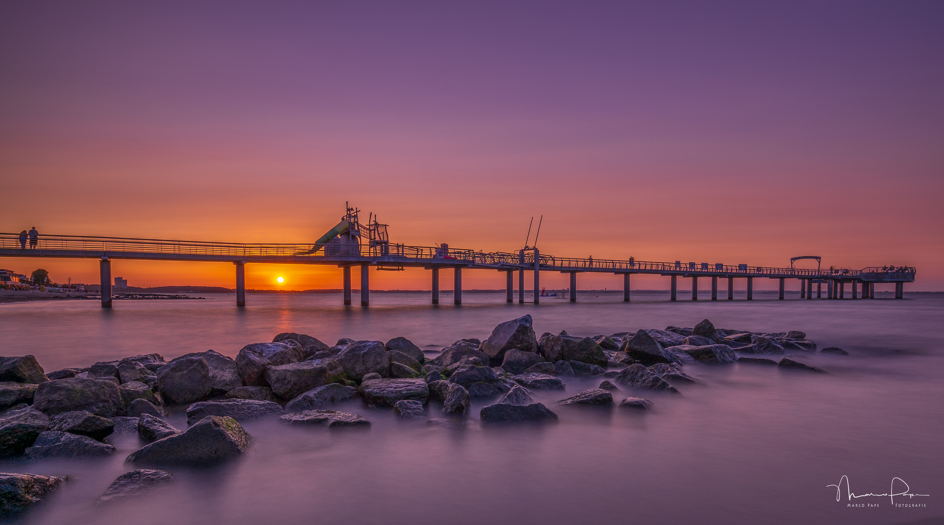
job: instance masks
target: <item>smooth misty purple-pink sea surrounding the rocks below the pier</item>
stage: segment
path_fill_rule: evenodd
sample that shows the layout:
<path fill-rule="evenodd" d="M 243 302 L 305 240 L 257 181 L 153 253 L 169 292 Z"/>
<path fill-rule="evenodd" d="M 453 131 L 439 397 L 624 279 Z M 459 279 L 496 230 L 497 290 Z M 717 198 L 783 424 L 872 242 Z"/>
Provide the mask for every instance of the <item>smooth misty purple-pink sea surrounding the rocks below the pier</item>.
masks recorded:
<path fill-rule="evenodd" d="M 369 308 L 339 295 L 231 295 L 206 301 L 93 301 L 0 305 L 2 354 L 37 356 L 47 371 L 86 367 L 135 353 L 167 359 L 208 349 L 235 356 L 247 343 L 301 332 L 340 337 L 406 336 L 425 350 L 461 337 L 485 338 L 524 314 L 535 331 L 594 336 L 702 319 L 719 328 L 802 330 L 819 348 L 802 353 L 828 375 L 760 366 L 686 365 L 705 382 L 682 396 L 642 393 L 649 413 L 555 407 L 599 379 L 566 379 L 567 393 L 537 393 L 556 423 L 481 427 L 474 403 L 464 430 L 399 420 L 356 402 L 373 422 L 362 432 L 244 424 L 255 437 L 243 459 L 218 468 L 168 468 L 179 483 L 108 508 L 93 501 L 133 469 L 137 436 L 112 438 L 104 460 L 2 462 L 0 470 L 69 475 L 25 523 L 328 524 L 899 524 L 944 521 L 944 294 L 906 301 L 668 303 L 665 292 L 582 294 L 578 304 L 546 298 L 504 304 L 503 294 L 466 294 L 462 306 L 427 294 L 374 294 Z M 451 302 L 444 296 L 444 303 Z M 625 391 L 623 395 L 640 395 Z M 436 417 L 430 410 L 430 417 Z M 182 410 L 170 418 L 185 428 Z M 855 494 L 913 494 L 854 498 Z M 923 505 L 923 506 L 902 506 Z M 872 505 L 872 506 L 868 506 Z"/>

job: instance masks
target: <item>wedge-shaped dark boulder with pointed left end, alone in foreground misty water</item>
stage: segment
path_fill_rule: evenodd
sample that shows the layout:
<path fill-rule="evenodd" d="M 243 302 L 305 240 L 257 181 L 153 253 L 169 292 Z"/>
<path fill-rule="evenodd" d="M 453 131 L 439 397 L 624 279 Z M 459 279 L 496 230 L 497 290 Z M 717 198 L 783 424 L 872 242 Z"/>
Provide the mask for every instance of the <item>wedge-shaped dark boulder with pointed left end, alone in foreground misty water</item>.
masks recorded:
<path fill-rule="evenodd" d="M 278 343 L 276 343 L 278 344 Z M 202 418 L 186 432 L 158 439 L 127 456 L 130 463 L 209 464 L 249 450 L 252 436 L 236 419 Z"/>

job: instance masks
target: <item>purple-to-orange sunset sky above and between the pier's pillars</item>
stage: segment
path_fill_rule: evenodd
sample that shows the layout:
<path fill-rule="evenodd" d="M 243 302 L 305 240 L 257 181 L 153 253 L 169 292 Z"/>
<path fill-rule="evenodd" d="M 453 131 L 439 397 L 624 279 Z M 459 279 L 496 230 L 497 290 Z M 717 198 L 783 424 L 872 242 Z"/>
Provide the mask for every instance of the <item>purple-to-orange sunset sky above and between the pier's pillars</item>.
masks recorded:
<path fill-rule="evenodd" d="M 817 254 L 916 266 L 906 289 L 944 290 L 938 2 L 2 11 L 3 232 L 311 242 L 349 201 L 407 244 L 513 251 L 543 214 L 544 254 Z M 93 260 L 0 261 L 40 266 L 98 279 Z M 116 261 L 112 274 L 234 286 L 225 264 Z M 246 286 L 278 275 L 341 286 L 337 268 L 265 265 L 247 266 Z M 428 271 L 371 277 L 430 287 Z M 468 271 L 464 286 L 503 287 L 503 274 Z"/>

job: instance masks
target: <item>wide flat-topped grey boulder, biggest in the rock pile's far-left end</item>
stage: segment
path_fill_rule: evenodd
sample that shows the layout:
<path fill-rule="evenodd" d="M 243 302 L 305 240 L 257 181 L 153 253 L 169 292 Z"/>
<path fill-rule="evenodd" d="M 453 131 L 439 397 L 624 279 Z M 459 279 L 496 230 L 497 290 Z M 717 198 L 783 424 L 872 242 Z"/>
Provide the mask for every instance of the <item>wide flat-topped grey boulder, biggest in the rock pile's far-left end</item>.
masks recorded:
<path fill-rule="evenodd" d="M 40 384 L 33 398 L 33 407 L 48 416 L 85 410 L 95 416 L 111 418 L 125 412 L 118 385 L 111 381 L 80 377 Z"/>

